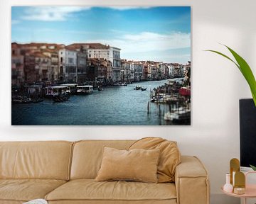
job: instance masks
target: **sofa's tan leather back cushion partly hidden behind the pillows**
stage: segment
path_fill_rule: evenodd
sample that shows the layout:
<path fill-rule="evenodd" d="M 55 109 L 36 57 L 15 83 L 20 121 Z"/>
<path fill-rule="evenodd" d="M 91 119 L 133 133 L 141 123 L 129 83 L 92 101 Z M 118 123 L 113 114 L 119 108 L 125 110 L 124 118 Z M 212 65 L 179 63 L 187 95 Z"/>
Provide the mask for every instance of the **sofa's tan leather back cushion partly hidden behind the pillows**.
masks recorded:
<path fill-rule="evenodd" d="M 95 179 L 102 162 L 103 147 L 128 149 L 134 140 L 82 140 L 75 142 L 70 179 Z"/>

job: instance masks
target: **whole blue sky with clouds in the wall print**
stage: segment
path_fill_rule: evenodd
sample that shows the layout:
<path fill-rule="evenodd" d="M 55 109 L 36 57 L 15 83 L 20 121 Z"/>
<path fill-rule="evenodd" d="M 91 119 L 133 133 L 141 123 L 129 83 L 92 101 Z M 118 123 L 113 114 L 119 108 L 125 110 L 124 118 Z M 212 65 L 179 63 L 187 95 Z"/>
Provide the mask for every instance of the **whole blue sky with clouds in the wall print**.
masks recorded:
<path fill-rule="evenodd" d="M 127 60 L 191 60 L 191 8 L 13 6 L 12 42 L 100 42 Z"/>

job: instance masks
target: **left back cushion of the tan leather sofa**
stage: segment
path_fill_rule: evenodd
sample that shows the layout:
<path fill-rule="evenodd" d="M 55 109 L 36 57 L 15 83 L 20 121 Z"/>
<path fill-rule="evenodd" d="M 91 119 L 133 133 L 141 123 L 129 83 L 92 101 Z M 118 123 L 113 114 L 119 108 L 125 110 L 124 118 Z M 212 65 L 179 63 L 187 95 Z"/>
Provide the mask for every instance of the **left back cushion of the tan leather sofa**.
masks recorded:
<path fill-rule="evenodd" d="M 68 180 L 73 142 L 0 142 L 0 179 Z"/>

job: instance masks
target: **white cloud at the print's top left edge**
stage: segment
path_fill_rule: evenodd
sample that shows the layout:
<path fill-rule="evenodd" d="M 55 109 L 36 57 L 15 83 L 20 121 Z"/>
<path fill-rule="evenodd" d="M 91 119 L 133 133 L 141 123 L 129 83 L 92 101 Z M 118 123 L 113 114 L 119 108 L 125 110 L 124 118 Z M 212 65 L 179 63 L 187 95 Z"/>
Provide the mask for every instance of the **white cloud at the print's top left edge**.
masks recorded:
<path fill-rule="evenodd" d="M 27 8 L 22 19 L 28 21 L 65 21 L 70 14 L 90 7 L 81 6 L 33 6 Z"/>

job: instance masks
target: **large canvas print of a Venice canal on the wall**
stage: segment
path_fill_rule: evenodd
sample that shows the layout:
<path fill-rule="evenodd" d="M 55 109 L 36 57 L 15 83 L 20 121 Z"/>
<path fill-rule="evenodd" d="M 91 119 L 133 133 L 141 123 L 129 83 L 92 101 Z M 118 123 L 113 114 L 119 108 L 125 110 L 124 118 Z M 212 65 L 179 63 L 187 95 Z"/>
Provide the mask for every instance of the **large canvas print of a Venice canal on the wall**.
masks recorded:
<path fill-rule="evenodd" d="M 13 6 L 12 125 L 191 125 L 190 6 Z"/>

